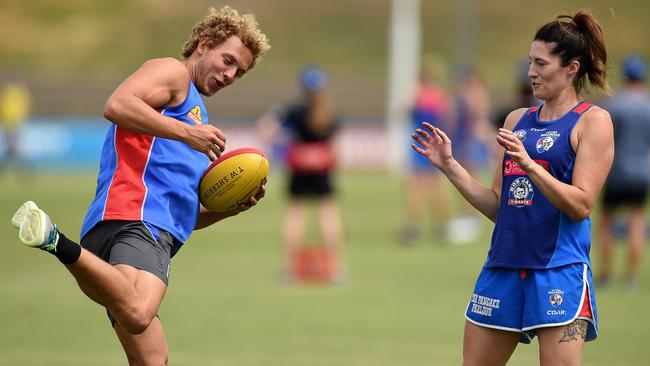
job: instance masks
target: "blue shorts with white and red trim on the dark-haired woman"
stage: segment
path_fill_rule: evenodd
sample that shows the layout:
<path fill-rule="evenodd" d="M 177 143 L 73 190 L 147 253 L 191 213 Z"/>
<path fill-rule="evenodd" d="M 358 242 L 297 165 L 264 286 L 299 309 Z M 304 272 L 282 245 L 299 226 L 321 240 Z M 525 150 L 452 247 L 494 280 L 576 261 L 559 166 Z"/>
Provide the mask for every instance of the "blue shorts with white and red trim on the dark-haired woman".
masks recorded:
<path fill-rule="evenodd" d="M 587 320 L 586 341 L 596 339 L 598 315 L 591 270 L 584 263 L 549 269 L 486 268 L 476 280 L 465 318 L 476 325 L 521 333 Z"/>

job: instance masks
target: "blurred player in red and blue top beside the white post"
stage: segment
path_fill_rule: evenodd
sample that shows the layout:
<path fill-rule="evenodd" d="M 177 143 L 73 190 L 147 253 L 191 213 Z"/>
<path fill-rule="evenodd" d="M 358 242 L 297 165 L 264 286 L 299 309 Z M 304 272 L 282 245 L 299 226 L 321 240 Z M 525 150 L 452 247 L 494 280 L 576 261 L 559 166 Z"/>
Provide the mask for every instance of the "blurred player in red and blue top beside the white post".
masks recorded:
<path fill-rule="evenodd" d="M 422 122 L 449 129 L 451 97 L 443 87 L 446 67 L 435 55 L 423 58 L 420 80 L 411 111 L 411 132 Z M 429 160 L 414 150 L 409 152 L 409 170 L 406 178 L 405 222 L 400 230 L 400 240 L 413 245 L 420 238 L 424 219 L 430 210 L 436 238 L 447 240 L 447 224 L 451 218 L 447 179 L 439 171 L 431 169 Z"/>

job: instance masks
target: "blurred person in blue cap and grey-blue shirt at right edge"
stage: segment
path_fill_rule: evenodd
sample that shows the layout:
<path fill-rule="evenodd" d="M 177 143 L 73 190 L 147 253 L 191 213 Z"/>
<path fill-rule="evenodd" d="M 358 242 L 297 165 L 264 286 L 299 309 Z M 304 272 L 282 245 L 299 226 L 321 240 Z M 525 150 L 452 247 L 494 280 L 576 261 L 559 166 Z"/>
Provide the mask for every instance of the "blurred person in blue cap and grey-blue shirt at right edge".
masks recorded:
<path fill-rule="evenodd" d="M 615 154 L 605 183 L 600 228 L 598 281 L 609 282 L 612 272 L 614 215 L 627 209 L 628 258 L 625 284 L 636 287 L 639 263 L 646 243 L 645 206 L 650 183 L 650 94 L 645 86 L 647 67 L 639 56 L 622 64 L 623 88 L 607 105 L 614 123 Z"/>

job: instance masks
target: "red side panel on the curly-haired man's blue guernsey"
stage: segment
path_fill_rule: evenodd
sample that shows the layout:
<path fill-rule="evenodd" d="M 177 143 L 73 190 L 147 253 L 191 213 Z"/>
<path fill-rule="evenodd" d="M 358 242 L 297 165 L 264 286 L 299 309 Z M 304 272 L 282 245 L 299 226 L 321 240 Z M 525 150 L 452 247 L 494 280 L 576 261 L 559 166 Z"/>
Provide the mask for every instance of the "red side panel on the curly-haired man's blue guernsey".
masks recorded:
<path fill-rule="evenodd" d="M 142 205 L 147 194 L 142 179 L 153 139 L 153 136 L 115 127 L 117 167 L 102 220 L 142 220 Z"/>

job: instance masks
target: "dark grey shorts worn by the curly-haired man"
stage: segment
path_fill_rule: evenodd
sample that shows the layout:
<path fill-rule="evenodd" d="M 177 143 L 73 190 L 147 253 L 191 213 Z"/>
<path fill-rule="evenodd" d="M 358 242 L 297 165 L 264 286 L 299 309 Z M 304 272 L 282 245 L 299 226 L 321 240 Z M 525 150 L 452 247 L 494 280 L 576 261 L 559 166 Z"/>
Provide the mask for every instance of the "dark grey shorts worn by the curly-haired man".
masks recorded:
<path fill-rule="evenodd" d="M 109 264 L 126 264 L 152 273 L 165 286 L 169 284 L 173 245 L 171 234 L 150 230 L 142 221 L 101 221 L 81 239 L 83 248 Z"/>

